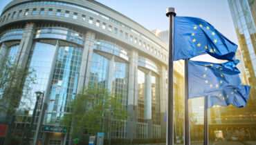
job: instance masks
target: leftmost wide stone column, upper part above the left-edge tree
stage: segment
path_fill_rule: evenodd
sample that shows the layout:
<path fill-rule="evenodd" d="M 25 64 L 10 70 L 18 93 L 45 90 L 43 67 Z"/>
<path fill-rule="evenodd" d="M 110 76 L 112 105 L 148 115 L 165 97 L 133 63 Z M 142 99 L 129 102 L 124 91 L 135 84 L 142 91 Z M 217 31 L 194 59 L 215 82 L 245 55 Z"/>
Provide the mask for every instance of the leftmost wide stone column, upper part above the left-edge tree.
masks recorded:
<path fill-rule="evenodd" d="M 33 45 L 33 38 L 35 35 L 35 24 L 34 23 L 27 23 L 24 29 L 24 34 L 21 38 L 21 42 L 19 43 L 19 50 L 17 52 L 17 56 L 15 62 L 17 62 L 17 66 L 19 68 L 25 68 L 28 55 Z"/>

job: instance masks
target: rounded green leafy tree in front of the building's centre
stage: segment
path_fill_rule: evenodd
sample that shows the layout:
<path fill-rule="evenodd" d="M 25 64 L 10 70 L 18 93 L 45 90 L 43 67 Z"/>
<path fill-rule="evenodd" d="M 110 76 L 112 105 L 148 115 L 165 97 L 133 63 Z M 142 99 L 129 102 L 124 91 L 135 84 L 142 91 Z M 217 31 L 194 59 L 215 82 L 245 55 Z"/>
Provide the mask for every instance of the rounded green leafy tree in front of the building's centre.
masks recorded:
<path fill-rule="evenodd" d="M 72 137 L 118 130 L 127 120 L 127 110 L 120 95 L 113 96 L 107 88 L 97 85 L 82 89 L 69 106 L 71 113 L 64 115 L 62 122 Z"/>

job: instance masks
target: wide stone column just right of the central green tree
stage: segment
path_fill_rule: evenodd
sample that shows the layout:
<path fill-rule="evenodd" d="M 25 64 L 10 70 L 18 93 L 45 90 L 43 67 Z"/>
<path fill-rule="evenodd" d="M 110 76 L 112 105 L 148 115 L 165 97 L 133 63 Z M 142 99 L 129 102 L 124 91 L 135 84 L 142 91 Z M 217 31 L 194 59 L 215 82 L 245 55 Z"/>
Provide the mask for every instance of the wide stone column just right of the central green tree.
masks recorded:
<path fill-rule="evenodd" d="M 127 106 L 127 138 L 136 138 L 137 135 L 137 86 L 138 86 L 138 52 L 131 50 L 129 57 L 129 85 Z"/>

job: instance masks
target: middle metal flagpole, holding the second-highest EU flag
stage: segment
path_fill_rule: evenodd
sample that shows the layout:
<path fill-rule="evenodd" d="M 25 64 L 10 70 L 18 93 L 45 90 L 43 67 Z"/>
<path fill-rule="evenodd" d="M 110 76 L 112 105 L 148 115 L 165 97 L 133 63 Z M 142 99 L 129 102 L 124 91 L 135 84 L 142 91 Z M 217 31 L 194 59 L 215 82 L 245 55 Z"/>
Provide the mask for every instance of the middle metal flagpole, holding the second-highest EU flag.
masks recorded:
<path fill-rule="evenodd" d="M 189 115 L 189 104 L 188 104 L 188 59 L 184 61 L 184 108 L 185 108 L 185 119 L 184 119 L 184 133 L 185 133 L 185 145 L 190 145 L 190 115 Z"/>

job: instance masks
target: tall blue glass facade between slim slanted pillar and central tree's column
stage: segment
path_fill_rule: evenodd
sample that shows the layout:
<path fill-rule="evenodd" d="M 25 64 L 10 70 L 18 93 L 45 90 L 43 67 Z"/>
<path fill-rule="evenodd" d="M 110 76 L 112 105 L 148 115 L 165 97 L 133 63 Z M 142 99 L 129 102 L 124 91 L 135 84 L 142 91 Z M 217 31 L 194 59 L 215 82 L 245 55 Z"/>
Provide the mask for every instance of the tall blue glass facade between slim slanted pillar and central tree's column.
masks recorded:
<path fill-rule="evenodd" d="M 71 110 L 68 102 L 77 93 L 77 81 L 82 59 L 82 48 L 61 46 L 55 61 L 51 92 L 48 99 L 46 124 L 60 124 L 64 113 Z"/>

